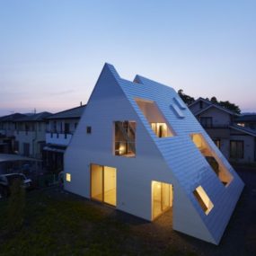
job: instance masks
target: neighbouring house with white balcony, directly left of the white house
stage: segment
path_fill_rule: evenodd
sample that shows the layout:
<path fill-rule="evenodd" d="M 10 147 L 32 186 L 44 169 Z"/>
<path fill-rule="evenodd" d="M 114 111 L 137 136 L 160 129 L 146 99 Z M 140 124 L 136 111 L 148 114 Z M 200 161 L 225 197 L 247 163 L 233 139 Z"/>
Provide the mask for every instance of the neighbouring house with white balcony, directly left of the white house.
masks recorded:
<path fill-rule="evenodd" d="M 48 170 L 63 170 L 63 154 L 68 146 L 85 105 L 64 110 L 47 118 L 46 146 L 43 160 Z"/>

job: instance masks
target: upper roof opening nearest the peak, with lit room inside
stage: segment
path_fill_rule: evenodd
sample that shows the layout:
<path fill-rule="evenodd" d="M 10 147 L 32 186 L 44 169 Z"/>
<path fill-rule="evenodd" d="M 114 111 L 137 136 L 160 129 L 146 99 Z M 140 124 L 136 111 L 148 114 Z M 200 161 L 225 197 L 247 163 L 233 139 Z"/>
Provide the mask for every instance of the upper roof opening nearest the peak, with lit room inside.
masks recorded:
<path fill-rule="evenodd" d="M 155 102 L 135 99 L 139 109 L 143 112 L 156 137 L 172 137 L 174 132 L 169 127 Z"/>

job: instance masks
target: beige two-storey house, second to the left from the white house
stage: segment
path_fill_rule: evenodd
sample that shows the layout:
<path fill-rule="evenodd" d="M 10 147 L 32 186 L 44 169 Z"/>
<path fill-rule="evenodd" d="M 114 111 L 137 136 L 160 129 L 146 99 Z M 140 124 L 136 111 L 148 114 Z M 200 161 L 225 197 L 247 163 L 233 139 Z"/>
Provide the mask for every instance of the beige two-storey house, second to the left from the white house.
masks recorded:
<path fill-rule="evenodd" d="M 14 122 L 15 148 L 18 154 L 33 158 L 42 158 L 42 148 L 45 146 L 46 118 L 51 113 L 41 112 L 26 115 Z"/>

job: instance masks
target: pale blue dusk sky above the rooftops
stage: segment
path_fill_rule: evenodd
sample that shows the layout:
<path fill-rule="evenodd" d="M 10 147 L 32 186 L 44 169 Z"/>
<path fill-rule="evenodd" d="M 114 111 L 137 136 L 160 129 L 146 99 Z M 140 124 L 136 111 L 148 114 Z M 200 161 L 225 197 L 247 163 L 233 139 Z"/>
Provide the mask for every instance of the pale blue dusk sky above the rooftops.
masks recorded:
<path fill-rule="evenodd" d="M 256 1 L 0 0 L 0 115 L 86 103 L 105 62 L 256 111 Z"/>

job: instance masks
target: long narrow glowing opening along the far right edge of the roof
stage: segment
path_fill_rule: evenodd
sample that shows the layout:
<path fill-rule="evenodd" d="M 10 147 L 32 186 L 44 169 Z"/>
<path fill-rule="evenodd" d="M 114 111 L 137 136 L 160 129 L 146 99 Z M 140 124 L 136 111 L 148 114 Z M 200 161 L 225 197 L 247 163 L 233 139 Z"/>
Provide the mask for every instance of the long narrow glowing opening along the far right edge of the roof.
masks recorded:
<path fill-rule="evenodd" d="M 203 154 L 211 166 L 212 170 L 216 173 L 216 176 L 224 185 L 228 185 L 232 180 L 233 176 L 225 168 L 224 163 L 216 155 L 215 151 L 207 144 L 207 141 L 201 134 L 192 134 L 191 139 L 195 146 L 199 148 L 201 154 Z"/>

